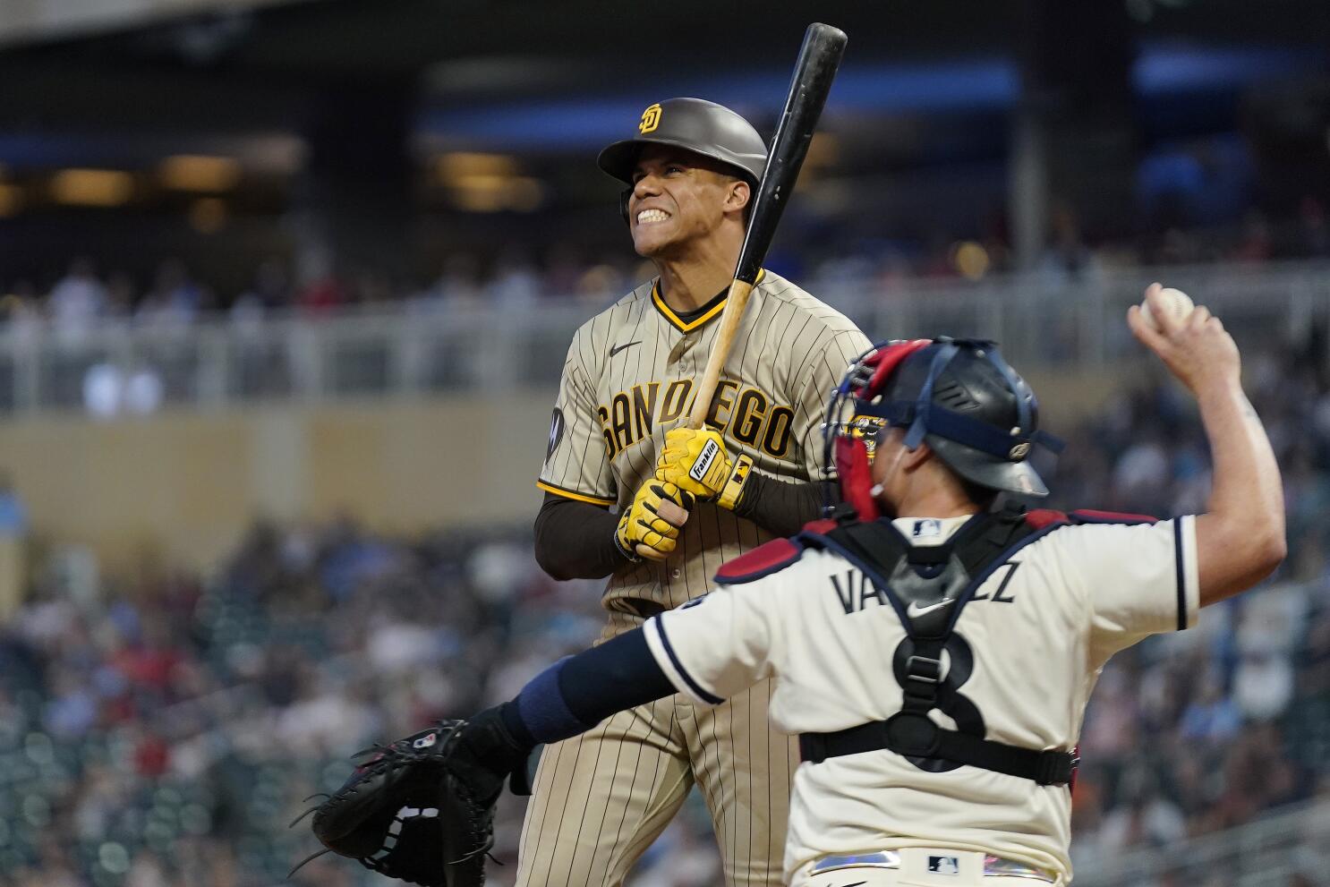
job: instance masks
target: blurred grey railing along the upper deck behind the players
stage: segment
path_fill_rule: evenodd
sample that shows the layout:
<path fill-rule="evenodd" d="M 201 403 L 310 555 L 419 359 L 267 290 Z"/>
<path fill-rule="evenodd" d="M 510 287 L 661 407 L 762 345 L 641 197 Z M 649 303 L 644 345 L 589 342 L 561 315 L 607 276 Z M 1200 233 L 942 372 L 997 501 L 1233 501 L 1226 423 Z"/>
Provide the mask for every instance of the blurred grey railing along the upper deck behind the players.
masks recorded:
<path fill-rule="evenodd" d="M 1153 279 L 1216 306 L 1244 346 L 1303 335 L 1330 305 L 1325 262 L 809 286 L 870 336 L 982 336 L 1000 342 L 1017 366 L 1096 368 L 1132 354 L 1123 313 Z M 11 323 L 0 327 L 0 415 L 81 410 L 90 388 L 134 374 L 148 376 L 160 402 L 197 408 L 552 387 L 573 330 L 598 307 L 559 298 L 521 307 L 415 299 L 321 318 L 105 320 L 86 330 Z"/>

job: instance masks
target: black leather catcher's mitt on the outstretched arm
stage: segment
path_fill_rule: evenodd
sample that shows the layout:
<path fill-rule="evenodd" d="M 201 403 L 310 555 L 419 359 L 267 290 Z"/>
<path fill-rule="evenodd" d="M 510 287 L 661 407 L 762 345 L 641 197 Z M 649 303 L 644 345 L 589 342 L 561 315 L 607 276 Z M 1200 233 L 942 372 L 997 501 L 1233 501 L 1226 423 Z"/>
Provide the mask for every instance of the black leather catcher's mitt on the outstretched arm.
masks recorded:
<path fill-rule="evenodd" d="M 472 721 L 440 721 L 359 754 L 371 751 L 374 757 L 313 810 L 319 842 L 422 887 L 484 884 L 495 803 L 507 771 L 527 751 L 497 710 Z"/>

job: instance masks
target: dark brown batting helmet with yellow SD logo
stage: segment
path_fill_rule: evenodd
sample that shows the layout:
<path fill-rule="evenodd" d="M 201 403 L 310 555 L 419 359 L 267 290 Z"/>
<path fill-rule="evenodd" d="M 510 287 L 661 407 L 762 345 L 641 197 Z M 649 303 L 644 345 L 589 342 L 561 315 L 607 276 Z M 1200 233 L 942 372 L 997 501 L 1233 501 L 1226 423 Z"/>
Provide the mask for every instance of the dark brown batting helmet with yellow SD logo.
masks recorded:
<path fill-rule="evenodd" d="M 628 185 L 644 145 L 670 145 L 710 157 L 754 188 L 766 169 L 766 142 L 753 125 L 724 105 L 702 98 L 666 98 L 642 112 L 637 134 L 608 146 L 597 165 Z"/>

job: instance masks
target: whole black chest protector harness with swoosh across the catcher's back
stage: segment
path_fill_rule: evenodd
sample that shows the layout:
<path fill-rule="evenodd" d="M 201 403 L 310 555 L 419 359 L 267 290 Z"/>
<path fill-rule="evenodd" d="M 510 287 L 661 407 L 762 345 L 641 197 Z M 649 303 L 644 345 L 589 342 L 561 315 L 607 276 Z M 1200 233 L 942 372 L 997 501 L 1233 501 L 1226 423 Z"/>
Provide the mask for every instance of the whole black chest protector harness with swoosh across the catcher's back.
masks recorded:
<path fill-rule="evenodd" d="M 891 604 L 907 638 L 894 664 L 903 688 L 900 711 L 886 721 L 847 730 L 805 733 L 799 737 L 803 759 L 819 763 L 831 757 L 888 749 L 924 770 L 959 763 L 1039 785 L 1069 783 L 1076 767 L 1072 753 L 1036 751 L 947 730 L 934 723 L 928 713 L 939 709 L 939 690 L 946 680 L 943 653 L 966 604 L 1020 548 L 1071 523 L 1076 520 L 1059 512 L 1027 515 L 1009 508 L 975 516 L 940 545 L 912 545 L 887 520 L 809 524 L 798 541 L 833 551 L 863 570 Z"/>

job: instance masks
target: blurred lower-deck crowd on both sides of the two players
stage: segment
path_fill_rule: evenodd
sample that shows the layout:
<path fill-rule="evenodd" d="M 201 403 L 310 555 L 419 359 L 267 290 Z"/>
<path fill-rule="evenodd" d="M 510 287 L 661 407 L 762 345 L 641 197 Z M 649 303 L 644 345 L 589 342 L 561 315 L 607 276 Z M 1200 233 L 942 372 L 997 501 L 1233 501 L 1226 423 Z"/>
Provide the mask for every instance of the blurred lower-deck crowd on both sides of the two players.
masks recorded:
<path fill-rule="evenodd" d="M 1290 557 L 1267 588 L 1205 610 L 1105 669 L 1085 721 L 1073 858 L 1085 872 L 1290 802 L 1330 801 L 1330 384 L 1315 347 L 1249 355 L 1285 469 Z M 1123 392 L 1071 445 L 1055 504 L 1204 507 L 1209 463 L 1172 384 Z M 553 582 L 525 528 L 386 539 L 350 517 L 257 523 L 209 576 L 145 561 L 104 577 L 52 545 L 0 632 L 0 884 L 258 887 L 317 847 L 287 823 L 346 755 L 509 698 L 591 642 L 600 584 Z M 694 798 L 634 887 L 720 880 Z M 495 883 L 523 802 L 505 798 Z M 1309 850 L 1309 852 L 1317 848 Z M 1180 862 L 1180 864 L 1182 864 Z M 1322 866 L 1309 879 L 1323 883 Z M 1232 871 L 1177 880 L 1236 887 Z M 323 856 L 293 879 L 382 883 Z M 1162 882 L 1161 882 L 1162 883 Z"/>

